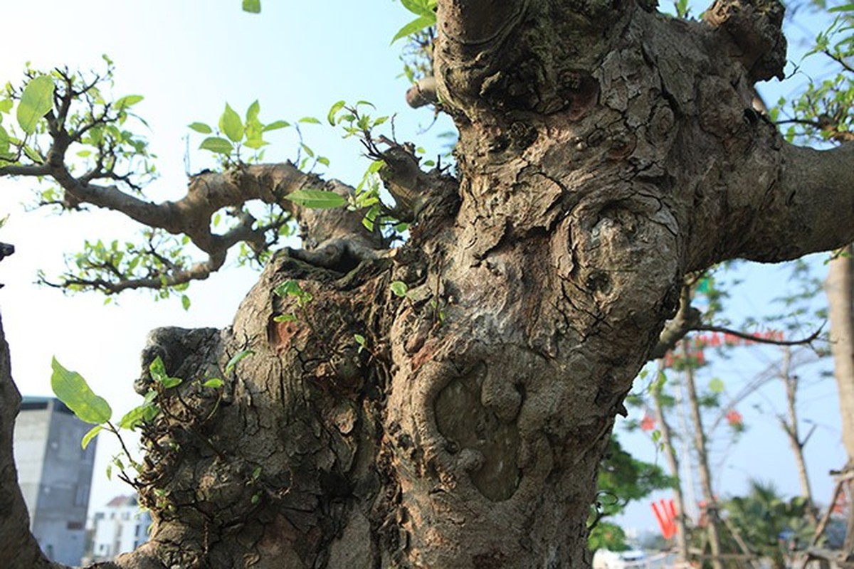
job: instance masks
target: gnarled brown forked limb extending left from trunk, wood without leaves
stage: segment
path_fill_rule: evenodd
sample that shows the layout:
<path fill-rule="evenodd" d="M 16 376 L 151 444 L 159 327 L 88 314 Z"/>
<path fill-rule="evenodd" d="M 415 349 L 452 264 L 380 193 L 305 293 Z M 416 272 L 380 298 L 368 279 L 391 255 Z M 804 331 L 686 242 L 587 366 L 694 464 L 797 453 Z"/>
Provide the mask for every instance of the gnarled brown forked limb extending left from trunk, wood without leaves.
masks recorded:
<path fill-rule="evenodd" d="M 225 234 L 215 234 L 211 230 L 211 218 L 215 212 L 228 207 L 240 208 L 252 200 L 260 200 L 288 212 L 300 224 L 307 249 L 322 247 L 332 241 L 341 249 L 341 242 L 348 241 L 348 252 L 354 258 L 365 258 L 366 251 L 383 248 L 381 235 L 368 232 L 362 226 L 360 212 L 350 212 L 345 208 L 311 210 L 286 200 L 285 196 L 297 189 L 327 189 L 340 195 L 348 195 L 353 191 L 346 184 L 335 180 L 324 182 L 313 174 L 300 171 L 290 162 L 243 165 L 221 173 L 205 171 L 191 177 L 183 198 L 157 204 L 130 195 L 115 185 L 98 185 L 73 177 L 64 162 L 56 158 L 61 157 L 66 146 L 63 136 L 60 136 L 58 140 L 55 139 L 48 164 L 7 166 L 0 169 L 0 176 L 54 177 L 65 190 L 66 201 L 76 206 L 99 206 L 123 213 L 151 228 L 164 229 L 173 235 L 188 235 L 196 247 L 208 253 L 208 259 L 188 269 L 170 272 L 162 278 L 124 278 L 115 282 L 100 278 L 71 278 L 63 282 L 63 287 L 79 285 L 95 287 L 107 293 L 119 293 L 126 289 L 170 287 L 205 279 L 219 270 L 225 263 L 228 250 L 238 242 L 246 241 L 255 250 L 269 245 L 265 235 L 268 228 L 254 228 L 255 220 L 249 214 L 244 215 Z M 336 260 L 331 259 L 330 264 L 335 264 Z"/>

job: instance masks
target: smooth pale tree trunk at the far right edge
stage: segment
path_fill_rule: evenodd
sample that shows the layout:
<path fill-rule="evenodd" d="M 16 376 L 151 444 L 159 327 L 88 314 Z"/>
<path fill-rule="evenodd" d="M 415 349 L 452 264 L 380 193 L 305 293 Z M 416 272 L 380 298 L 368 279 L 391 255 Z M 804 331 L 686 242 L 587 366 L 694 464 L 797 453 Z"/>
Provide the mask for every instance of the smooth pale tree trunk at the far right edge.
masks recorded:
<path fill-rule="evenodd" d="M 830 262 L 828 279 L 830 346 L 834 355 L 834 377 L 842 415 L 842 443 L 848 455 L 844 475 L 854 470 L 854 246 L 849 245 Z M 854 483 L 848 482 L 848 496 Z M 849 506 L 848 529 L 842 557 L 854 563 L 854 507 Z"/>

